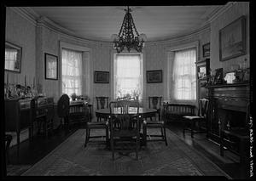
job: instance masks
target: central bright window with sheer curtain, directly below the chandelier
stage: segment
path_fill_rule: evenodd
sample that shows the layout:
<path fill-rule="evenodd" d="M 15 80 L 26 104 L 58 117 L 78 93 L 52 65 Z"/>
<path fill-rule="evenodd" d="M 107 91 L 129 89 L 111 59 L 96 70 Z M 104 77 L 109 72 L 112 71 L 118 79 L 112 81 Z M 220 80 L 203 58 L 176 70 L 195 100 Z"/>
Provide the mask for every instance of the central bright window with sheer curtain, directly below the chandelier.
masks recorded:
<path fill-rule="evenodd" d="M 142 98 L 143 64 L 141 54 L 116 54 L 114 60 L 114 99 L 134 93 Z"/>

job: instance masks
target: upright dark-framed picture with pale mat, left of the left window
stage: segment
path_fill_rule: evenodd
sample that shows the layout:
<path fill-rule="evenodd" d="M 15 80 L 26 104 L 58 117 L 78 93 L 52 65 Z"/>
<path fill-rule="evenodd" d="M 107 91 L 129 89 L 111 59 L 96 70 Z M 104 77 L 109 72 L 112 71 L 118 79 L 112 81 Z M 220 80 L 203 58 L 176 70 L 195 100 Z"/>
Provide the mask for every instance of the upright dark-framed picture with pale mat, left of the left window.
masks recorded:
<path fill-rule="evenodd" d="M 48 80 L 58 80 L 58 57 L 44 53 L 44 76 Z"/>

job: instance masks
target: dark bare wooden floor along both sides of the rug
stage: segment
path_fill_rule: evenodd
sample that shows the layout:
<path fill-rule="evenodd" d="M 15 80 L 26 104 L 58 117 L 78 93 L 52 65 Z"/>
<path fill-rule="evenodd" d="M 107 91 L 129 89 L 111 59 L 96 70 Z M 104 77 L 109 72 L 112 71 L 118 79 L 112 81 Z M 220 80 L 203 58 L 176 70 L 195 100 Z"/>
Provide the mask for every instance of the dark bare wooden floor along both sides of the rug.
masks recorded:
<path fill-rule="evenodd" d="M 59 128 L 45 139 L 43 135 L 35 136 L 32 142 L 28 140 L 20 143 L 20 156 L 17 159 L 16 146 L 9 150 L 10 165 L 33 165 L 44 156 L 48 155 L 51 150 L 54 150 L 59 144 L 67 139 L 77 129 L 84 127 L 84 125 L 73 125 L 69 131 L 64 128 Z M 239 158 L 230 151 L 225 151 L 224 157 L 219 156 L 218 144 L 206 139 L 204 133 L 195 134 L 195 138 L 191 139 L 190 134 L 186 133 L 183 136 L 182 127 L 176 122 L 168 125 L 168 128 L 176 133 L 178 137 L 183 139 L 186 144 L 201 152 L 202 155 L 207 156 L 212 162 L 220 167 L 225 173 L 229 174 L 231 178 L 244 179 L 248 178 L 248 169 L 241 167 Z"/>

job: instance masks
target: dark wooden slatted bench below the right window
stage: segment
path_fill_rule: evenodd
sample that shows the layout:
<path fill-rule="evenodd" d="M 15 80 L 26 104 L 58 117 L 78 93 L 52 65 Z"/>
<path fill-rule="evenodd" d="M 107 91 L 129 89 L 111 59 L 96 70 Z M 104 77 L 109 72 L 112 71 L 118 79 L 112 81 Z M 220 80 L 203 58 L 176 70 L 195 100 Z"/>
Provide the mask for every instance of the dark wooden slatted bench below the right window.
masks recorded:
<path fill-rule="evenodd" d="M 183 116 L 195 115 L 195 105 L 166 104 L 165 106 L 166 122 L 181 121 Z"/>

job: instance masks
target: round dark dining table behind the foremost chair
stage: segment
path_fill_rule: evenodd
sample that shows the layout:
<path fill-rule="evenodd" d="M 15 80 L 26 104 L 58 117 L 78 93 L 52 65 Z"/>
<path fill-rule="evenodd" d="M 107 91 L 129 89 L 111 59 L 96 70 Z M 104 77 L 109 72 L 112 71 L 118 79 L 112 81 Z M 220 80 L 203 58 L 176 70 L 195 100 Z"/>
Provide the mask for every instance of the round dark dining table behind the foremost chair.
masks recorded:
<path fill-rule="evenodd" d="M 136 107 L 130 107 L 128 112 L 131 115 L 137 114 L 137 108 Z M 113 109 L 113 112 L 112 112 L 113 115 L 119 115 L 120 113 L 121 113 L 120 109 L 118 109 L 118 108 Z M 141 116 L 141 118 L 142 118 L 141 123 L 143 124 L 143 120 L 147 119 L 148 117 L 155 116 L 156 113 L 157 113 L 156 109 L 140 107 L 139 108 L 139 116 Z M 109 116 L 110 116 L 110 109 L 109 108 L 96 110 L 96 117 L 108 118 Z M 146 145 L 147 130 L 143 129 L 143 133 L 140 133 L 140 135 L 141 135 L 141 145 Z"/>

